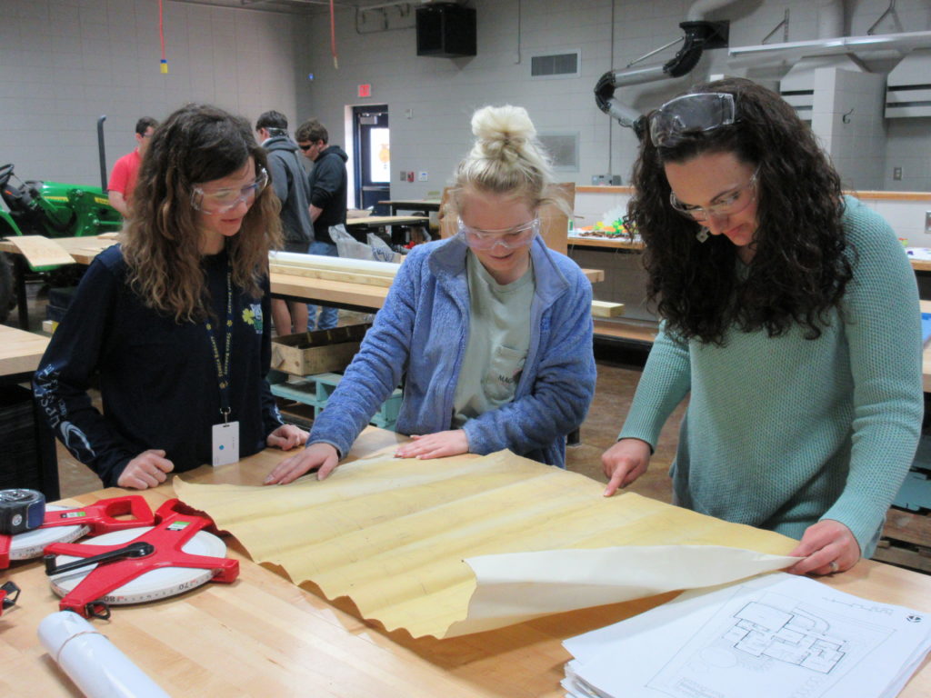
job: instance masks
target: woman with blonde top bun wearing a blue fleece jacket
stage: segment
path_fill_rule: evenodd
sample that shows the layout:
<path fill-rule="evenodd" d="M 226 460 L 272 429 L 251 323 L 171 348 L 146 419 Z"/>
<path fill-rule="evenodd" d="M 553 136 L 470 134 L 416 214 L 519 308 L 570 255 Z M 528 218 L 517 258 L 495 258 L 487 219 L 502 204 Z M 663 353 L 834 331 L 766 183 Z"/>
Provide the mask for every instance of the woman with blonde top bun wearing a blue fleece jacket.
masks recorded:
<path fill-rule="evenodd" d="M 527 112 L 484 107 L 472 131 L 457 235 L 412 249 L 307 448 L 266 484 L 327 477 L 402 375 L 398 456 L 509 449 L 564 467 L 595 389 L 591 284 L 538 235 L 550 174 Z"/>

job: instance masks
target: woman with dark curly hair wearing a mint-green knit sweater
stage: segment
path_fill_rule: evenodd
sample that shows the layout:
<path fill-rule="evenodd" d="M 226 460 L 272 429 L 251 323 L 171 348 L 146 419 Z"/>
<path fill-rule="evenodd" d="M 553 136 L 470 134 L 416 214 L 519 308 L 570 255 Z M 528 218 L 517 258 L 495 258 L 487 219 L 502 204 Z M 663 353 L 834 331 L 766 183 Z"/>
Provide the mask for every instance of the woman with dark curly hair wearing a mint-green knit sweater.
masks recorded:
<path fill-rule="evenodd" d="M 811 129 L 731 78 L 649 114 L 629 219 L 662 323 L 606 495 L 691 394 L 677 503 L 801 543 L 790 571 L 869 557 L 921 430 L 921 327 L 895 233 L 841 192 Z"/>

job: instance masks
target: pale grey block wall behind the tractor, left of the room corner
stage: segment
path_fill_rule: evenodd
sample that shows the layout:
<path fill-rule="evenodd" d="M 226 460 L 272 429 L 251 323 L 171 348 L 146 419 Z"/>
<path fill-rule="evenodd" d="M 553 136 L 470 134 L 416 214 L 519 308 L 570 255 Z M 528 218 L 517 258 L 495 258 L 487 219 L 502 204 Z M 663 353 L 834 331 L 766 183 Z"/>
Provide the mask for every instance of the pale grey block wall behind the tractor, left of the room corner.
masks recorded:
<path fill-rule="evenodd" d="M 166 0 L 169 74 L 161 74 L 155 0 L 0 0 L 0 164 L 22 180 L 100 184 L 135 147 L 142 115 L 189 101 L 256 117 L 297 118 L 298 26 L 290 15 Z"/>

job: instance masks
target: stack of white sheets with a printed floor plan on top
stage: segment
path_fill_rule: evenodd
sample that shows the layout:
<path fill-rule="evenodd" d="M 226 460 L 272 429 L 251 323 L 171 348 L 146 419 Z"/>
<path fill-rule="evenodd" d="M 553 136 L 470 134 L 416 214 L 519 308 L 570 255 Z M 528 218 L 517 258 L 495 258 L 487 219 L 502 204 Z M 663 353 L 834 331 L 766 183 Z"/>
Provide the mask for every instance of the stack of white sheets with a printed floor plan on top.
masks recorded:
<path fill-rule="evenodd" d="M 777 572 L 563 644 L 573 698 L 888 698 L 931 649 L 931 613 Z"/>

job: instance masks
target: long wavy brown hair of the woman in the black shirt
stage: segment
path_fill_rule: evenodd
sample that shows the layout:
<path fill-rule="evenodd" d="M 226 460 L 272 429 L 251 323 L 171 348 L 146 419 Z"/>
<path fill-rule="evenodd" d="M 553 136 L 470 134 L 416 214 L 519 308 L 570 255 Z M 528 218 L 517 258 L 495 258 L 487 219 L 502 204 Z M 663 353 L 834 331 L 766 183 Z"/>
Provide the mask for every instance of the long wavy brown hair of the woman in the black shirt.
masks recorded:
<path fill-rule="evenodd" d="M 128 282 L 148 307 L 173 315 L 177 322 L 199 321 L 209 314 L 191 192 L 243 168 L 249 158 L 256 171 L 267 169 L 265 152 L 249 123 L 216 107 L 188 104 L 155 129 L 142 159 L 123 242 Z M 233 281 L 256 298 L 268 273 L 268 250 L 280 246 L 279 208 L 272 187 L 265 187 L 239 232 L 226 240 Z"/>

